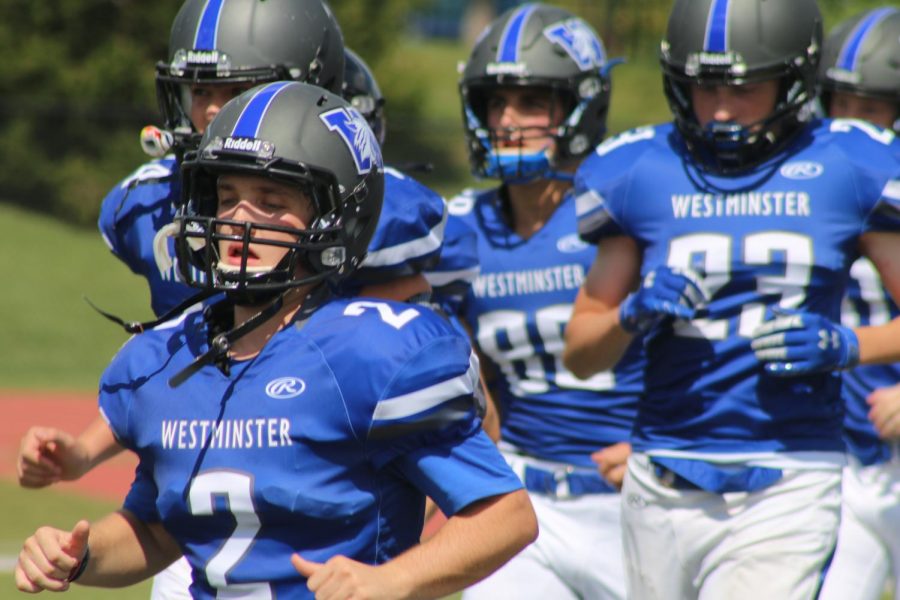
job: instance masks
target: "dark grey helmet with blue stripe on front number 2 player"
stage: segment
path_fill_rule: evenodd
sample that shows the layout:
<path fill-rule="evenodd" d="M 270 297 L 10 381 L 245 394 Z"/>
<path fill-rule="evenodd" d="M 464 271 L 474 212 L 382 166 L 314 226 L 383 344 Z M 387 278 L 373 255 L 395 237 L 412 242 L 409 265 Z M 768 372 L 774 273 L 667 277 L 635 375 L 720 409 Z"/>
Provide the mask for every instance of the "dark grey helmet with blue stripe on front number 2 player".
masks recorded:
<path fill-rule="evenodd" d="M 264 84 L 225 104 L 198 149 L 185 155 L 182 173 L 174 219 L 181 276 L 238 304 L 352 273 L 366 255 L 384 194 L 381 150 L 362 115 L 339 96 L 298 82 Z M 298 186 L 313 201 L 314 221 L 300 230 L 217 218 L 216 180 L 223 173 Z M 224 225 L 240 233 L 226 233 Z M 258 237 L 265 230 L 288 232 L 296 241 Z M 226 240 L 243 243 L 240 266 L 220 263 L 219 242 Z M 275 268 L 260 271 L 248 268 L 250 244 L 288 252 Z"/>

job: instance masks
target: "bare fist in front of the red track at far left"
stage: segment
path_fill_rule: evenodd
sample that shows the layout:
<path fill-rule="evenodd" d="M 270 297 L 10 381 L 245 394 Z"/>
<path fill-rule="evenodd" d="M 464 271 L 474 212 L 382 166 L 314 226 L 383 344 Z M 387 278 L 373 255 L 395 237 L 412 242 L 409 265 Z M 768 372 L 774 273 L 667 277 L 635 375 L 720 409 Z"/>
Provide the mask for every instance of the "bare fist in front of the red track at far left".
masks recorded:
<path fill-rule="evenodd" d="M 32 427 L 19 444 L 16 474 L 22 487 L 40 488 L 78 479 L 87 471 L 88 462 L 73 436 L 54 427 Z"/>

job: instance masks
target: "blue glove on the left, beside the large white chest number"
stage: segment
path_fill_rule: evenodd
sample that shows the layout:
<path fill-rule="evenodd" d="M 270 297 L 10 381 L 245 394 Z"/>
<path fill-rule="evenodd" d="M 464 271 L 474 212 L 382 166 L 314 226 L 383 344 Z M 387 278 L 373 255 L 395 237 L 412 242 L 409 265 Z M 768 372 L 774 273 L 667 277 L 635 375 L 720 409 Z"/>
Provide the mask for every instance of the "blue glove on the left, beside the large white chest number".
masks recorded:
<path fill-rule="evenodd" d="M 645 333 L 667 317 L 693 319 L 708 301 L 700 278 L 691 270 L 662 266 L 647 273 L 641 287 L 619 307 L 619 323 L 628 333 Z"/>

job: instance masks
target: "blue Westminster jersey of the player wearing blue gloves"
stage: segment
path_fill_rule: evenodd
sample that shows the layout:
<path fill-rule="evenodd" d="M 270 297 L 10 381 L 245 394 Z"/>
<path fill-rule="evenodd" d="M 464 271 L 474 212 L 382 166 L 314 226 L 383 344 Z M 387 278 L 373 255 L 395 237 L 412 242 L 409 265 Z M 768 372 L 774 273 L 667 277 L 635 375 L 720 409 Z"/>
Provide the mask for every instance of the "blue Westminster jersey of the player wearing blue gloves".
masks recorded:
<path fill-rule="evenodd" d="M 725 177 L 699 172 L 667 124 L 611 138 L 582 164 L 583 238 L 628 235 L 642 250 L 642 275 L 692 268 L 712 296 L 647 348 L 636 450 L 844 450 L 840 374 L 768 375 L 750 339 L 776 307 L 840 318 L 860 235 L 898 226 L 891 143 L 861 122 L 815 121 L 767 163 Z"/>

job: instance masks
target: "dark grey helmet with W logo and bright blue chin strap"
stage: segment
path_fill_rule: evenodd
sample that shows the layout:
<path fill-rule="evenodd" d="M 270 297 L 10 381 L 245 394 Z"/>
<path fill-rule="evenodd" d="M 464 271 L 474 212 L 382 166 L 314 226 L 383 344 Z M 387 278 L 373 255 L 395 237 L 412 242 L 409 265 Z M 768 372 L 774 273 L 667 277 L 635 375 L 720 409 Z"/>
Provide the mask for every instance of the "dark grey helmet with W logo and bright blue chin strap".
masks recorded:
<path fill-rule="evenodd" d="M 462 71 L 463 125 L 472 171 L 507 182 L 563 177 L 555 169 L 586 156 L 606 133 L 610 68 L 600 36 L 572 13 L 530 3 L 495 19 L 475 43 Z M 533 86 L 557 94 L 565 106 L 552 136 L 555 150 L 499 152 L 509 131 L 487 127 L 487 97 L 499 86 Z"/>

